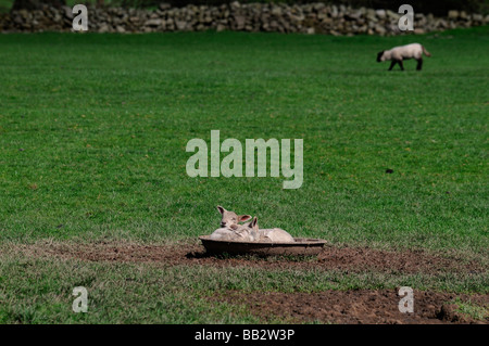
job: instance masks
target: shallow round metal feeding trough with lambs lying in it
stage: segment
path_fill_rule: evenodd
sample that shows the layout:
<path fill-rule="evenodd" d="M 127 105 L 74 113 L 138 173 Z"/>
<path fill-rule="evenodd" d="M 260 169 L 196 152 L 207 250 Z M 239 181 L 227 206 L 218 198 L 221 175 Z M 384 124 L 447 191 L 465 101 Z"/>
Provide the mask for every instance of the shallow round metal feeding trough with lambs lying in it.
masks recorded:
<path fill-rule="evenodd" d="M 202 235 L 199 239 L 202 241 L 205 251 L 214 255 L 316 256 L 323 249 L 324 244 L 326 244 L 325 240 L 310 238 L 294 238 L 293 243 L 221 241 L 210 239 L 210 235 Z"/>

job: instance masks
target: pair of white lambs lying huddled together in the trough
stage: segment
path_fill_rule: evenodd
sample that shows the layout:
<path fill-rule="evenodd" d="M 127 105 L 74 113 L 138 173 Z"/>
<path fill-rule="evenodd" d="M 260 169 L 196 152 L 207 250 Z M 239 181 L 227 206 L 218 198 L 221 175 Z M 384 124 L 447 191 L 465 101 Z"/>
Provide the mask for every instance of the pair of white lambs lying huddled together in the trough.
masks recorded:
<path fill-rule="evenodd" d="M 226 210 L 217 206 L 222 215 L 221 228 L 212 234 L 212 240 L 240 241 L 240 242 L 261 242 L 261 243 L 293 243 L 292 235 L 279 228 L 259 229 L 258 218 L 254 217 L 250 222 L 239 225 L 251 219 L 250 215 L 237 215 L 234 212 Z"/>

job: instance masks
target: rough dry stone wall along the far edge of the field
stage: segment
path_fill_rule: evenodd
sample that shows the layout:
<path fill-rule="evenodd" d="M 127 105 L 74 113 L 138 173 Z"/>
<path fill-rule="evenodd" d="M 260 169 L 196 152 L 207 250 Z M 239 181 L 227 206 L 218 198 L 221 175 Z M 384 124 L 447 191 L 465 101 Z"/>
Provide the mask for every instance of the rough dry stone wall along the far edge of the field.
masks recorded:
<path fill-rule="evenodd" d="M 276 31 L 329 35 L 398 35 L 400 14 L 390 10 L 352 9 L 344 5 L 308 3 L 233 2 L 218 7 L 172 8 L 162 3 L 156 10 L 88 8 L 88 29 L 98 33 L 153 31 Z M 36 11 L 0 14 L 0 30 L 70 31 L 72 9 L 45 7 Z M 415 13 L 414 34 L 457 27 L 486 25 L 489 15 L 449 11 L 446 17 Z"/>

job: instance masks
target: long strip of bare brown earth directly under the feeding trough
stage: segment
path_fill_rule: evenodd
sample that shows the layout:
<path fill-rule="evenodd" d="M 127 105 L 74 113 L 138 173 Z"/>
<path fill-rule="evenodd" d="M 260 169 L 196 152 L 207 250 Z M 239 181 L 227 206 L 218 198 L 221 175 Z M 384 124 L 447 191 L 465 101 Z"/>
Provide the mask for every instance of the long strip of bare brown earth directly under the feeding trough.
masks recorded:
<path fill-rule="evenodd" d="M 141 245 L 134 243 L 38 243 L 16 245 L 26 256 L 74 258 L 87 261 L 155 262 L 165 266 L 202 265 L 216 267 L 260 267 L 266 269 L 324 269 L 351 272 L 389 273 L 486 272 L 476 260 L 440 256 L 422 251 L 388 252 L 368 247 L 325 246 L 317 257 L 259 258 L 253 256 L 208 256 L 197 244 Z"/>

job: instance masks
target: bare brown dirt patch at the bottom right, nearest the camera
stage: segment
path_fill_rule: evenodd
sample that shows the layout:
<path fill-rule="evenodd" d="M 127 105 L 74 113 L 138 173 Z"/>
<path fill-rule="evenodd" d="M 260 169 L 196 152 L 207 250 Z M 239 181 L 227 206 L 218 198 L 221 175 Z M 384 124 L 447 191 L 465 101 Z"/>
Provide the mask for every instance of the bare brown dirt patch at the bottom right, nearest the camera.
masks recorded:
<path fill-rule="evenodd" d="M 399 311 L 398 290 L 325 291 L 318 293 L 226 292 L 211 300 L 246 305 L 252 315 L 265 321 L 279 318 L 292 323 L 321 322 L 338 324 L 440 324 L 489 323 L 459 311 L 456 302 L 471 302 L 489 309 L 488 295 L 454 295 L 437 292 L 414 292 L 414 312 Z M 486 310 L 487 311 L 487 310 Z"/>

